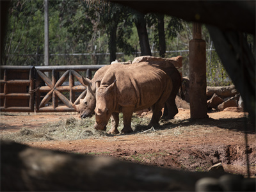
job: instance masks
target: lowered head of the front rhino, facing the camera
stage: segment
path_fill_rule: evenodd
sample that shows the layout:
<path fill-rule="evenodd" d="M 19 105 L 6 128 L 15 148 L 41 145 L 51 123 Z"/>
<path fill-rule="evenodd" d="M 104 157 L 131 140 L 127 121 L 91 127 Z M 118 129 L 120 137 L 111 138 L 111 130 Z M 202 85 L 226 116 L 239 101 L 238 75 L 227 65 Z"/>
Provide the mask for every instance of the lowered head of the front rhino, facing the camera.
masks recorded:
<path fill-rule="evenodd" d="M 95 129 L 106 131 L 106 125 L 115 106 L 115 87 L 116 81 L 109 86 L 96 82 Z"/>

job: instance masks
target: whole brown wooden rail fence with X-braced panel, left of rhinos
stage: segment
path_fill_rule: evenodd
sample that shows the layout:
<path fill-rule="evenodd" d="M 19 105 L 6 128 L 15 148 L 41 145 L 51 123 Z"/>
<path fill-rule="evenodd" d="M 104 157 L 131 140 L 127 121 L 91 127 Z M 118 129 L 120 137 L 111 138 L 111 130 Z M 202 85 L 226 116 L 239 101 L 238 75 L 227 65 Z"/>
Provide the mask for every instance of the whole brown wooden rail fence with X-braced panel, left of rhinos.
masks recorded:
<path fill-rule="evenodd" d="M 1 66 L 0 111 L 75 111 L 72 104 L 86 95 L 82 76 L 103 66 Z"/>

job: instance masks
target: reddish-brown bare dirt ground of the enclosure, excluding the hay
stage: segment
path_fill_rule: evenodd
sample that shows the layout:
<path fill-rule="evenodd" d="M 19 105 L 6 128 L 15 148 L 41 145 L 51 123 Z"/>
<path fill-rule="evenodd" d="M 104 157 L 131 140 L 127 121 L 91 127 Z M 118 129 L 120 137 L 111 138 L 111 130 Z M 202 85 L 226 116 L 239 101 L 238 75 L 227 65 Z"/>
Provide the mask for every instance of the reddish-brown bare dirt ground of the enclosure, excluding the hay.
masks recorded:
<path fill-rule="evenodd" d="M 150 113 L 143 113 L 149 118 Z M 221 111 L 209 113 L 209 118 L 191 120 L 189 109 L 179 109 L 174 120 L 161 122 L 159 129 L 131 134 L 106 135 L 85 140 L 33 141 L 26 145 L 77 154 L 111 156 L 150 166 L 176 170 L 205 172 L 212 165 L 222 163 L 225 172 L 256 174 L 255 126 L 248 124 L 243 112 Z M 2 113 L 1 135 L 20 129 L 40 129 L 48 122 L 58 122 L 78 113 Z M 179 123 L 175 123 L 175 122 Z M 245 146 L 244 127 L 248 146 Z"/>

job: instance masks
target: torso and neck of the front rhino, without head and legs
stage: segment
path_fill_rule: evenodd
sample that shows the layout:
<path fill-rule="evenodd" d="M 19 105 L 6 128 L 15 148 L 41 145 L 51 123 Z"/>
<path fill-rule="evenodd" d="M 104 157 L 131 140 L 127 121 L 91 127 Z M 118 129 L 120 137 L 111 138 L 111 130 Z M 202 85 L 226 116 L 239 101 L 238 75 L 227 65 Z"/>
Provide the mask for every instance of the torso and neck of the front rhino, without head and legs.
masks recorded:
<path fill-rule="evenodd" d="M 147 64 L 108 70 L 101 84 L 110 85 L 115 80 L 118 105 L 134 106 L 136 110 L 156 103 L 171 81 L 163 70 Z"/>

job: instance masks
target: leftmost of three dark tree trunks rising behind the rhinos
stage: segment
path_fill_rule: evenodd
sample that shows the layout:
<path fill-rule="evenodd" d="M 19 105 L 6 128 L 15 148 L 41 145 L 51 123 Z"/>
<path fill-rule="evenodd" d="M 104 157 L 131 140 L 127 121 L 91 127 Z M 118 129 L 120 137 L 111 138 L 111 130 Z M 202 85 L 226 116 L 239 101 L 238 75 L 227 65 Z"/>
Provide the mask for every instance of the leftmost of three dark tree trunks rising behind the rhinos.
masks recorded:
<path fill-rule="evenodd" d="M 109 29 L 109 42 L 108 42 L 108 49 L 109 49 L 109 63 L 116 60 L 116 30 L 117 26 L 113 25 Z"/>

